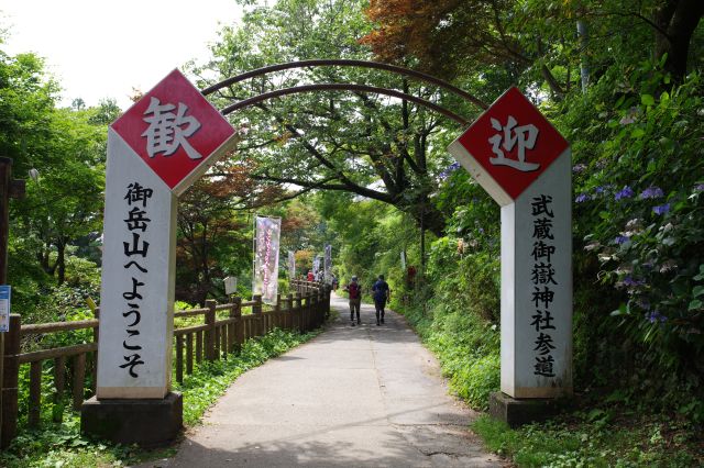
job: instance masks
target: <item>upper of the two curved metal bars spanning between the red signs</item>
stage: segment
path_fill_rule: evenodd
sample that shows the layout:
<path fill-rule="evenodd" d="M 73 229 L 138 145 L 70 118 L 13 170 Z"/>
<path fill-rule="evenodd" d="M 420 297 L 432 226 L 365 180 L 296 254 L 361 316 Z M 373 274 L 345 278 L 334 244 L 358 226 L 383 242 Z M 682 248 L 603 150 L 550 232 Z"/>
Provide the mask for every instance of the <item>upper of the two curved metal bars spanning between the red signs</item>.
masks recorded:
<path fill-rule="evenodd" d="M 208 88 L 204 89 L 201 92 L 204 96 L 208 96 L 218 91 L 219 89 L 222 89 L 230 85 L 234 85 L 235 82 L 240 82 L 249 78 L 254 78 L 254 77 L 271 74 L 274 71 L 287 70 L 292 68 L 323 67 L 323 66 L 374 68 L 380 70 L 392 71 L 398 75 L 414 77 L 421 81 L 426 81 L 426 82 L 436 85 L 439 88 L 446 89 L 461 97 L 462 99 L 469 102 L 472 102 L 474 105 L 479 107 L 482 110 L 488 109 L 488 105 L 484 103 L 481 99 L 470 94 L 466 91 L 463 91 L 457 86 L 450 85 L 449 82 L 441 80 L 440 78 L 433 77 L 432 75 L 411 70 L 410 68 L 399 67 L 396 65 L 382 64 L 378 62 L 353 60 L 353 59 L 316 59 L 316 60 L 287 62 L 285 64 L 270 65 L 268 67 L 257 68 L 254 70 L 250 70 L 250 71 L 237 75 L 234 77 L 224 79 L 218 83 L 209 86 Z"/>

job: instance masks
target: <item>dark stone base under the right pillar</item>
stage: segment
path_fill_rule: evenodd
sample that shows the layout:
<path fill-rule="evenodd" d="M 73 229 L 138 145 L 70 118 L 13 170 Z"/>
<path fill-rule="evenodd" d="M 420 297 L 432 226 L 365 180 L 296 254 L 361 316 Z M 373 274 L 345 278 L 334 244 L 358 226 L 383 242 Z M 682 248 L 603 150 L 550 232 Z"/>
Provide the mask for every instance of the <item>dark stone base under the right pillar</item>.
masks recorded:
<path fill-rule="evenodd" d="M 544 421 L 566 406 L 565 399 L 531 398 L 517 400 L 503 392 L 494 392 L 488 398 L 488 414 L 506 422 L 510 427 Z"/>

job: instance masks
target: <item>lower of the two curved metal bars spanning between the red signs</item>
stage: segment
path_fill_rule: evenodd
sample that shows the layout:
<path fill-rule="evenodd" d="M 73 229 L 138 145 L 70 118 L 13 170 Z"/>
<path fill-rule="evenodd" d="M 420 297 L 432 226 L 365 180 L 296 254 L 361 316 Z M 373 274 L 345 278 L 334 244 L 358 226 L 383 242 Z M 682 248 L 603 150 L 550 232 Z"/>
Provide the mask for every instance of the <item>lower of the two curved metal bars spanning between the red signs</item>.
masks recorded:
<path fill-rule="evenodd" d="M 234 112 L 239 109 L 243 109 L 243 108 L 248 108 L 250 105 L 254 105 L 258 102 L 262 101 L 266 101 L 268 99 L 273 99 L 273 98 L 279 98 L 282 96 L 288 96 L 288 94 L 297 94 L 297 93 L 302 93 L 302 92 L 312 92 L 312 91 L 361 91 L 361 92 L 374 92 L 374 93 L 378 93 L 378 94 L 385 94 L 385 96 L 391 96 L 394 98 L 398 98 L 398 99 L 405 99 L 407 101 L 410 102 L 415 102 L 416 104 L 422 105 L 425 108 L 431 109 L 444 116 L 447 116 L 448 119 L 452 119 L 453 121 L 462 124 L 462 125 L 468 125 L 470 122 L 464 119 L 463 116 L 460 116 L 458 114 L 455 114 L 452 111 L 449 111 L 433 102 L 427 101 L 425 99 L 421 98 L 417 98 L 415 96 L 411 94 L 406 94 L 405 92 L 400 92 L 400 91 L 396 91 L 395 89 L 386 89 L 386 88 L 377 88 L 374 86 L 366 86 L 366 85 L 351 85 L 351 83 L 341 83 L 341 82 L 336 82 L 336 83 L 319 83 L 319 85 L 305 85 L 305 86 L 297 86 L 294 88 L 283 88 L 283 89 L 277 89 L 275 91 L 270 91 L 270 92 L 264 92 L 262 94 L 255 96 L 253 98 L 249 98 L 249 99 L 243 99 L 239 102 L 235 102 L 234 104 L 230 104 L 227 108 L 222 109 L 220 112 L 223 115 L 227 115 L 231 112 Z"/>

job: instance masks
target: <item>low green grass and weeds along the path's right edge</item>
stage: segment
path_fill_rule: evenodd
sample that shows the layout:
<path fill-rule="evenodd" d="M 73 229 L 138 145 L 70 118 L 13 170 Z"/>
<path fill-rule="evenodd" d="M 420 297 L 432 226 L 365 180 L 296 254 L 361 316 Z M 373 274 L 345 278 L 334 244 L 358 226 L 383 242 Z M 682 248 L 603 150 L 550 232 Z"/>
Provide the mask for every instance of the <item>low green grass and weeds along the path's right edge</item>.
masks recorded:
<path fill-rule="evenodd" d="M 471 304 L 459 308 L 440 300 L 429 305 L 426 311 L 396 310 L 438 357 L 451 389 L 471 406 L 485 410 L 488 394 L 499 387 L 498 332 L 469 310 Z M 484 415 L 472 430 L 488 450 L 518 467 L 704 466 L 701 423 L 684 412 L 660 414 L 646 401 L 614 393 L 606 401 L 583 400 L 579 410 L 552 422 L 512 430 Z"/>

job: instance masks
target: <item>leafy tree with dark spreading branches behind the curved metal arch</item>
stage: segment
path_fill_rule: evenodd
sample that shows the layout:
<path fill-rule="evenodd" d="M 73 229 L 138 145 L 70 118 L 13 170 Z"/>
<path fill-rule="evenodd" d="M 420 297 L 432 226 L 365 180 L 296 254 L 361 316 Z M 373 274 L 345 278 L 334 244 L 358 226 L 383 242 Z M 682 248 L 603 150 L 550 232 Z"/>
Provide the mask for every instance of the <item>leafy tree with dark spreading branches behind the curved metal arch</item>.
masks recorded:
<path fill-rule="evenodd" d="M 221 78 L 302 58 L 369 58 L 358 40 L 369 32 L 361 1 L 284 0 L 255 8 L 240 27 L 226 27 L 213 46 L 213 59 L 197 73 Z M 305 19 L 305 21 L 301 21 Z M 226 105 L 274 88 L 308 82 L 364 82 L 399 89 L 476 112 L 443 97 L 436 87 L 383 73 L 318 68 L 267 76 L 221 90 L 213 100 Z M 296 189 L 286 198 L 315 190 L 355 193 L 407 212 L 437 234 L 443 213 L 429 200 L 438 175 L 449 164 L 442 120 L 407 101 L 361 92 L 318 92 L 267 101 L 230 115 L 243 138 L 238 157 L 255 163 L 252 178 Z M 448 124 L 455 129 L 454 125 Z M 437 146 L 436 146 L 437 145 Z M 439 152 L 435 148 L 440 148 Z"/>

